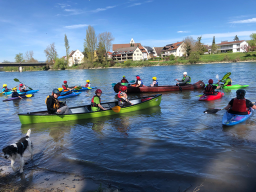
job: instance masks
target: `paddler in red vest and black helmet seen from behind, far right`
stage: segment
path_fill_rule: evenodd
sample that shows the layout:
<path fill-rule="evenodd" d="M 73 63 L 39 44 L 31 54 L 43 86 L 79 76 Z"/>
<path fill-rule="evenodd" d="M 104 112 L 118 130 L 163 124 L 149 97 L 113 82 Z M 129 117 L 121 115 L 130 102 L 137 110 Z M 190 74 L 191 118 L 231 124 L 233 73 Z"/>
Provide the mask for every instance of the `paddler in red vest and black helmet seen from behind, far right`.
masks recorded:
<path fill-rule="evenodd" d="M 250 100 L 245 99 L 245 90 L 238 89 L 236 90 L 236 97 L 232 98 L 229 103 L 224 107 L 227 112 L 232 114 L 249 114 L 249 107 L 256 109 L 256 105 L 254 105 Z"/>

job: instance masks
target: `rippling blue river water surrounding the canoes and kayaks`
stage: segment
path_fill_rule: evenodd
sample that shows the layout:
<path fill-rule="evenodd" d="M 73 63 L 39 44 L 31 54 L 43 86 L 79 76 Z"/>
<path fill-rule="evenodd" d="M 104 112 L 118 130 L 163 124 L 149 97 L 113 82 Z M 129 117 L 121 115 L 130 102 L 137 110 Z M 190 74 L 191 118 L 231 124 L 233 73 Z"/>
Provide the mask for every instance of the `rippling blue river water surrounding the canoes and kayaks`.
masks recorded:
<path fill-rule="evenodd" d="M 222 108 L 235 97 L 235 90 L 220 90 L 224 97 L 198 101 L 202 90 L 162 93 L 160 106 L 101 118 L 21 125 L 18 112 L 45 110 L 45 98 L 63 80 L 69 86 L 89 79 L 103 93 L 101 102 L 116 99 L 111 83 L 125 75 L 139 74 L 149 85 L 156 76 L 159 85 L 175 84 L 187 71 L 191 82 L 207 82 L 231 72 L 233 84 L 249 84 L 246 98 L 255 102 L 256 62 L 172 65 L 86 70 L 0 72 L 0 84 L 18 85 L 13 78 L 39 89 L 34 97 L 0 102 L 0 146 L 11 144 L 31 128 L 34 160 L 24 171 L 45 169 L 72 172 L 110 183 L 122 191 L 192 191 L 203 182 L 202 191 L 255 191 L 256 115 L 232 127 L 221 124 Z M 94 90 L 65 99 L 68 106 L 89 104 Z M 129 94 L 129 98 L 152 93 Z M 7 98 L 6 96 L 0 97 Z M 25 152 L 25 161 L 29 153 Z M 4 161 L 0 158 L 0 161 Z"/>

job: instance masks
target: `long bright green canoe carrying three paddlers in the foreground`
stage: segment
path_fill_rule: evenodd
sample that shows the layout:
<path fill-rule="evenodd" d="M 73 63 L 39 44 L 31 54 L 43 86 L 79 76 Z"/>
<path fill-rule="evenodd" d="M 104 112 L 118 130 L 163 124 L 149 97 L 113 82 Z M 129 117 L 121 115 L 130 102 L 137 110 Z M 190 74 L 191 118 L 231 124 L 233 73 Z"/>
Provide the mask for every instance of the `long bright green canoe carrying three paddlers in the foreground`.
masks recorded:
<path fill-rule="evenodd" d="M 133 105 L 121 107 L 118 113 L 131 112 L 135 110 L 149 108 L 152 106 L 158 106 L 161 102 L 161 94 L 155 94 L 151 96 L 130 99 L 130 102 L 133 103 Z M 109 108 L 109 109 L 91 112 L 90 105 L 84 105 L 84 106 L 69 107 L 71 111 L 70 114 L 48 114 L 47 111 L 37 111 L 37 112 L 18 113 L 18 117 L 21 124 L 30 124 L 30 123 L 40 123 L 40 122 L 78 120 L 78 119 L 94 118 L 94 117 L 117 114 L 115 110 L 117 101 L 105 102 L 105 103 L 101 103 L 101 105 L 104 108 Z"/>

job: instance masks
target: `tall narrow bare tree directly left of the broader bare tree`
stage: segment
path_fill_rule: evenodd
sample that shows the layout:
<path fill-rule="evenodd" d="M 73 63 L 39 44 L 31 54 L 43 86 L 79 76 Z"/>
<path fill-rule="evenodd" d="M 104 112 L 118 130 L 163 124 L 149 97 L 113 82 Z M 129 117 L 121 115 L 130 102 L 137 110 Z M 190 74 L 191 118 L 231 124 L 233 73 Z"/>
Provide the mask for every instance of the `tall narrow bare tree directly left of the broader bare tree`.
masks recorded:
<path fill-rule="evenodd" d="M 93 26 L 88 26 L 88 28 L 86 29 L 86 38 L 84 38 L 84 43 L 83 43 L 83 47 L 87 48 L 88 50 L 88 59 L 91 61 L 91 63 L 93 63 L 94 61 L 94 51 L 96 48 L 96 43 L 97 43 L 97 37 L 95 34 L 95 30 L 93 28 Z"/>

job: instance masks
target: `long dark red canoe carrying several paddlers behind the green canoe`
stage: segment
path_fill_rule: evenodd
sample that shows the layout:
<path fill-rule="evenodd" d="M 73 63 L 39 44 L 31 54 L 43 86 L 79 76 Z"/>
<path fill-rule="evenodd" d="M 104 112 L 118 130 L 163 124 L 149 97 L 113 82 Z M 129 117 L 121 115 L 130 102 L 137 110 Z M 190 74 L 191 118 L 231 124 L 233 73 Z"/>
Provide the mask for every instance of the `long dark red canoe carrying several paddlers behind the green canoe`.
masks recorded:
<path fill-rule="evenodd" d="M 116 83 L 114 85 L 114 91 L 119 92 L 121 90 L 121 86 L 123 86 L 121 83 Z M 203 89 L 204 88 L 204 82 L 199 80 L 198 82 L 194 84 L 188 84 L 182 87 L 182 90 L 189 90 L 189 89 Z M 163 85 L 163 86 L 142 86 L 142 87 L 135 87 L 135 86 L 127 86 L 127 93 L 131 92 L 168 92 L 168 91 L 178 91 L 179 87 L 176 85 Z"/>

